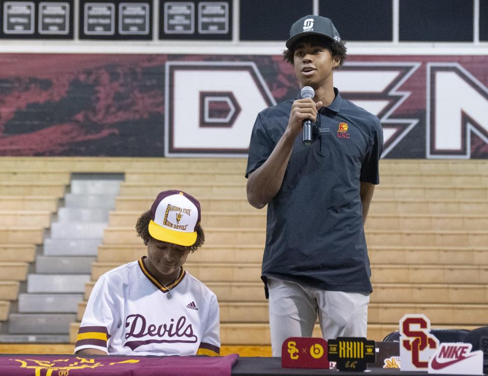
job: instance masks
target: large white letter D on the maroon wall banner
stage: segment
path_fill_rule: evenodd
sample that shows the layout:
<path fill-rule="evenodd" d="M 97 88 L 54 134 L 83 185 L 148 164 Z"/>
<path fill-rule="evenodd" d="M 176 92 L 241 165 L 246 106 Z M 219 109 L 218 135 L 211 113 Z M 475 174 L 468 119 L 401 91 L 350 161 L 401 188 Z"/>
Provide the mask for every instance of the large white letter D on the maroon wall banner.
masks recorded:
<path fill-rule="evenodd" d="M 254 62 L 169 61 L 165 92 L 165 156 L 245 156 L 276 104 Z"/>

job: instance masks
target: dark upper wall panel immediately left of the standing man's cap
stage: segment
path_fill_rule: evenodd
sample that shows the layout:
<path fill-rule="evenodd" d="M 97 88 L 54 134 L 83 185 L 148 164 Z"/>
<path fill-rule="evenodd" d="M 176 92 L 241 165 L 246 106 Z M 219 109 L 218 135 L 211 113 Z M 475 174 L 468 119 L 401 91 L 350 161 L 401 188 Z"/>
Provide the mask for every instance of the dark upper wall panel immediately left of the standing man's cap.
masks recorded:
<path fill-rule="evenodd" d="M 293 22 L 309 14 L 312 0 L 240 0 L 240 40 L 286 41 Z"/>

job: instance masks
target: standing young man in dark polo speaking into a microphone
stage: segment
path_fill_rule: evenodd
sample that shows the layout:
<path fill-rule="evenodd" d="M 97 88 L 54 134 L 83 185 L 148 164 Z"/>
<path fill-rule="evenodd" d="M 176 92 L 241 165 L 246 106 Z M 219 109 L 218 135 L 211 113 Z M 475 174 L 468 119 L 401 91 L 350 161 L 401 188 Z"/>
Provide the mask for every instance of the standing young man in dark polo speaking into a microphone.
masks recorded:
<path fill-rule="evenodd" d="M 332 21 L 299 19 L 286 47 L 300 88 L 315 96 L 258 114 L 246 170 L 249 203 L 268 206 L 261 278 L 273 356 L 286 338 L 311 336 L 317 315 L 325 339 L 366 336 L 372 287 L 363 225 L 383 149 L 378 118 L 333 86 L 346 47 Z M 305 120 L 316 126 L 309 146 Z"/>

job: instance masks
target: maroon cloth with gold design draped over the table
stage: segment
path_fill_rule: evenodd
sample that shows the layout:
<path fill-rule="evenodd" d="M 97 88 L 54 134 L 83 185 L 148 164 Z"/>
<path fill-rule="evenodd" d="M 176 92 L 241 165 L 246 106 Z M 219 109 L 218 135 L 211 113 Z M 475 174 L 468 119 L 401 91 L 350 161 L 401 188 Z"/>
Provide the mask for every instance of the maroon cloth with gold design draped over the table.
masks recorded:
<path fill-rule="evenodd" d="M 0 356 L 0 374 L 9 376 L 229 376 L 238 355 L 224 357 Z"/>

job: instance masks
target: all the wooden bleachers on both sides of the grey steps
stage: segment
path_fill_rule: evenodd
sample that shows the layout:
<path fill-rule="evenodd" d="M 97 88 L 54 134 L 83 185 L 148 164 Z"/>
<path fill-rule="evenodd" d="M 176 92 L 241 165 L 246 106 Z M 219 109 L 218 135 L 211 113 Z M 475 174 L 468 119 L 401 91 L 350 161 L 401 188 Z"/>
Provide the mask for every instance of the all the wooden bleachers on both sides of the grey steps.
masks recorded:
<path fill-rule="evenodd" d="M 5 320 L 3 312 L 34 260 L 48 213 L 56 210 L 63 195 L 59 187 L 69 183 L 72 172 L 117 172 L 126 179 L 84 300 L 103 272 L 145 254 L 135 235 L 137 217 L 158 192 L 180 188 L 202 204 L 207 241 L 189 256 L 186 268 L 218 295 L 222 343 L 268 345 L 267 303 L 259 279 L 265 209 L 256 210 L 246 200 L 245 166 L 244 159 L 233 158 L 3 158 L 0 219 L 6 225 L 0 228 L 0 320 Z M 381 340 L 398 329 L 406 313 L 424 313 L 433 328 L 485 325 L 487 183 L 484 160 L 381 161 L 381 184 L 366 225 L 375 290 L 369 338 Z M 27 212 L 32 223 L 22 221 Z M 72 341 L 85 301 L 79 304 L 78 322 L 71 325 Z"/>

